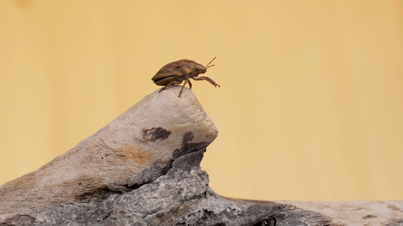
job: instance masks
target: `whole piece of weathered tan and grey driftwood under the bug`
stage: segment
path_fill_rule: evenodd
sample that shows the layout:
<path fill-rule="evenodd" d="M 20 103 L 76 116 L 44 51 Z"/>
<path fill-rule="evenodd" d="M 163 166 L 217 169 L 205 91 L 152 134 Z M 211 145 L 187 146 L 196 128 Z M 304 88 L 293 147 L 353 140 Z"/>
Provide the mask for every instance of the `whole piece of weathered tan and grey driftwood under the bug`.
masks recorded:
<path fill-rule="evenodd" d="M 403 202 L 220 197 L 199 163 L 218 130 L 185 88 L 154 92 L 0 187 L 0 225 L 403 225 Z"/>

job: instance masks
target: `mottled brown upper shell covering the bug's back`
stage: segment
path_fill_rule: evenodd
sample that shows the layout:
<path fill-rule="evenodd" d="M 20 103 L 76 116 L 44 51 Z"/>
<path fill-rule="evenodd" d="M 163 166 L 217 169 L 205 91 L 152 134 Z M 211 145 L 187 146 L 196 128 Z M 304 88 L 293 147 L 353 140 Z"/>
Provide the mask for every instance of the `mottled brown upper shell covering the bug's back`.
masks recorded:
<path fill-rule="evenodd" d="M 196 62 L 193 60 L 178 60 L 163 66 L 151 80 L 160 80 L 172 76 L 182 76 L 194 71 Z"/>

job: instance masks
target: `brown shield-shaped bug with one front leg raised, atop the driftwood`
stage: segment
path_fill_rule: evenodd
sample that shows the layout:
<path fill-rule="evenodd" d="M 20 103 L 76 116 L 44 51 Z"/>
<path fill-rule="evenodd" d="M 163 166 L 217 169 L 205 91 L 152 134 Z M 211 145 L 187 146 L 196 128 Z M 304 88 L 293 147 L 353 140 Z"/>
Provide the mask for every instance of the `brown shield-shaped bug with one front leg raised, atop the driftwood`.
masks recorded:
<path fill-rule="evenodd" d="M 216 57 L 214 59 L 216 59 Z M 186 59 L 178 60 L 163 66 L 157 72 L 157 74 L 154 75 L 154 77 L 152 77 L 151 80 L 153 80 L 157 86 L 164 86 L 162 87 L 160 92 L 171 85 L 181 84 L 183 80 L 185 80 L 185 83 L 183 84 L 181 91 L 179 92 L 179 97 L 181 97 L 182 90 L 188 82 L 189 82 L 189 88 L 190 89 L 192 88 L 192 83 L 189 81 L 189 78 L 193 80 L 207 80 L 211 84 L 213 84 L 213 86 L 220 87 L 220 85 L 216 84 L 209 77 L 202 76 L 196 78 L 197 76 L 199 76 L 199 74 L 206 73 L 207 68 L 214 66 L 212 65 L 209 67 L 209 65 L 211 64 L 211 62 L 213 62 L 213 60 L 211 60 L 206 67 L 204 67 L 201 64 L 197 64 L 193 60 L 186 60 Z"/>

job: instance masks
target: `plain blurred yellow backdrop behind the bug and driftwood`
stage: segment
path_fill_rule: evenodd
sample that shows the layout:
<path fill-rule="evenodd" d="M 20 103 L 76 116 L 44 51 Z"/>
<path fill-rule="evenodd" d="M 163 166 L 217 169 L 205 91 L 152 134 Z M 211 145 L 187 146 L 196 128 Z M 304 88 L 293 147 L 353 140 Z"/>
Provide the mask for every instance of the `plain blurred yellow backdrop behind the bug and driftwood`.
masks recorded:
<path fill-rule="evenodd" d="M 220 195 L 403 199 L 403 1 L 0 1 L 0 184 L 73 148 L 180 59 Z M 181 107 L 181 106 L 178 106 Z"/>

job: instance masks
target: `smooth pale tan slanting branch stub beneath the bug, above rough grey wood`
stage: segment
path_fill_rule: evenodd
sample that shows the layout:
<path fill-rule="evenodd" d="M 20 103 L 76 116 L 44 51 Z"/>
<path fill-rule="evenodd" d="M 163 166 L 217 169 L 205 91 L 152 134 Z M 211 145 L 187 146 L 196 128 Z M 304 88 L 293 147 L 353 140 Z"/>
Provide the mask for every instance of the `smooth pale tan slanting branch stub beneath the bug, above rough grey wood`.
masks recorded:
<path fill-rule="evenodd" d="M 97 190 L 125 191 L 165 170 L 186 142 L 206 146 L 218 130 L 189 89 L 155 91 L 37 171 L 0 187 L 0 219 Z M 155 171 L 155 172 L 154 172 Z"/>

